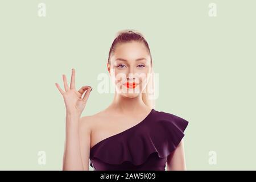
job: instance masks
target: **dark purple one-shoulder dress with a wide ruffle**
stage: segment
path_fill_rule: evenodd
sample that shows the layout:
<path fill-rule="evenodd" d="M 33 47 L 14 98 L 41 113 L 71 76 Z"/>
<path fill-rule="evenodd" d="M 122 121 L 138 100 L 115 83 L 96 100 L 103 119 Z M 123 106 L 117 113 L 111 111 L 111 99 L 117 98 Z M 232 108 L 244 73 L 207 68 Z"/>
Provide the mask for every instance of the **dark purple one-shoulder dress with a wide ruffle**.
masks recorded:
<path fill-rule="evenodd" d="M 152 109 L 137 125 L 105 138 L 90 148 L 94 171 L 164 171 L 167 156 L 184 137 L 188 121 Z"/>

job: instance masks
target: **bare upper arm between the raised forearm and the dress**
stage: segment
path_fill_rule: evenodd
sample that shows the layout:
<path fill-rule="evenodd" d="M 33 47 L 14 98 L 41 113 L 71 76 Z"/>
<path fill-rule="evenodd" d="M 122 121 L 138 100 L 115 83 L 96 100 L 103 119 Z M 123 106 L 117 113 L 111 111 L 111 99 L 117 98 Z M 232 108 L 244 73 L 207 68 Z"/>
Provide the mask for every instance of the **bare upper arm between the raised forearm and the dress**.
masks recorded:
<path fill-rule="evenodd" d="M 90 119 L 88 116 L 80 118 L 79 126 L 80 150 L 82 167 L 84 170 L 89 170 L 89 156 L 90 156 Z"/>

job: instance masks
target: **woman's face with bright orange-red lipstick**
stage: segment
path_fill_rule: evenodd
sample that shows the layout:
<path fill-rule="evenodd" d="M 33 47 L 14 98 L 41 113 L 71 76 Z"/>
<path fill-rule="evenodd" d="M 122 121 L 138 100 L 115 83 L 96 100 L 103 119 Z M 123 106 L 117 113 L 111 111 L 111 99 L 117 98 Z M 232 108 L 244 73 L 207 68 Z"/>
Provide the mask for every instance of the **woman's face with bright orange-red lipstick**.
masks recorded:
<path fill-rule="evenodd" d="M 118 44 L 110 57 L 108 69 L 118 94 L 130 98 L 137 97 L 142 91 L 146 91 L 150 78 L 150 54 L 141 42 Z"/>

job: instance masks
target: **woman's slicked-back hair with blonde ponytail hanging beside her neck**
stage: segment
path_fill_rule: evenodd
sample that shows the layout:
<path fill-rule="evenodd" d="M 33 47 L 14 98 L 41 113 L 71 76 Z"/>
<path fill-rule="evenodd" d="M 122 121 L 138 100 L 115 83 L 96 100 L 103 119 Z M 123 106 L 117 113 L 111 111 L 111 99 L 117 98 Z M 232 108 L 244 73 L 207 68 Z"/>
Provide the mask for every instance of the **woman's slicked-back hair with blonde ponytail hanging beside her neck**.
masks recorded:
<path fill-rule="evenodd" d="M 145 105 L 147 105 L 148 107 L 150 107 L 151 109 L 155 108 L 155 100 L 153 100 L 150 97 L 150 91 L 155 91 L 154 90 L 154 71 L 152 68 L 152 56 L 151 56 L 151 52 L 150 52 L 150 48 L 148 46 L 148 43 L 146 41 L 146 39 L 144 38 L 144 36 L 142 35 L 141 32 L 136 31 L 136 30 L 121 30 L 117 33 L 117 36 L 115 37 L 112 46 L 110 47 L 109 50 L 109 58 L 108 58 L 108 63 L 110 65 L 110 56 L 112 55 L 112 53 L 115 51 L 116 47 L 118 44 L 120 43 L 126 43 L 126 42 L 131 42 L 131 41 L 138 41 L 138 42 L 142 42 L 147 50 L 148 53 L 150 54 L 150 59 L 151 59 L 151 75 L 150 75 L 150 79 L 148 80 L 147 86 L 146 86 L 146 90 L 142 90 L 142 100 L 144 102 Z"/>

